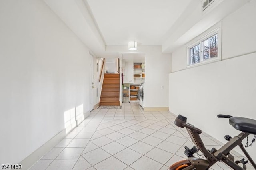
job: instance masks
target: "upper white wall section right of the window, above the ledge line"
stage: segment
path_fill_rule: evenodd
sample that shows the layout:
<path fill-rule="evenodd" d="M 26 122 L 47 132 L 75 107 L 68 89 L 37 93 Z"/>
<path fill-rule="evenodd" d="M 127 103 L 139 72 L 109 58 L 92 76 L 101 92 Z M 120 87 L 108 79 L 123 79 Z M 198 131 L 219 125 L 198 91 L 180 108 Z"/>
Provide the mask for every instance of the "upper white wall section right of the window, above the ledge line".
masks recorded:
<path fill-rule="evenodd" d="M 256 0 L 251 0 L 222 22 L 222 59 L 256 51 Z"/>

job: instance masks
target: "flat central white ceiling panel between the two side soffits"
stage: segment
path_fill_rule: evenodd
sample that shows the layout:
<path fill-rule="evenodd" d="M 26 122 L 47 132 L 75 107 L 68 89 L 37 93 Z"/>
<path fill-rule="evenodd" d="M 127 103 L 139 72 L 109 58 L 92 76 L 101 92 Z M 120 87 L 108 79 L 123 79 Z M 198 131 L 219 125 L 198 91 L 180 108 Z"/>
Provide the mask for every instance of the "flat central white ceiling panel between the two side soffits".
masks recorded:
<path fill-rule="evenodd" d="M 86 1 L 86 0 L 85 0 Z M 162 45 L 191 0 L 87 0 L 106 45 Z"/>

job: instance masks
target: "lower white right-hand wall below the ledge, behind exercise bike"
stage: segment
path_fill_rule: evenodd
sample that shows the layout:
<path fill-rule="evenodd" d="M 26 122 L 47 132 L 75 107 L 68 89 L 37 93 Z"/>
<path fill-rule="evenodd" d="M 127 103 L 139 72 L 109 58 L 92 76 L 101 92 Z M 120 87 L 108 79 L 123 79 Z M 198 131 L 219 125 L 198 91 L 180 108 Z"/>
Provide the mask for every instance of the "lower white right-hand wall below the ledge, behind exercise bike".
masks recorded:
<path fill-rule="evenodd" d="M 256 53 L 171 73 L 170 111 L 225 142 L 224 135 L 239 132 L 217 114 L 256 119 L 255 62 Z"/>

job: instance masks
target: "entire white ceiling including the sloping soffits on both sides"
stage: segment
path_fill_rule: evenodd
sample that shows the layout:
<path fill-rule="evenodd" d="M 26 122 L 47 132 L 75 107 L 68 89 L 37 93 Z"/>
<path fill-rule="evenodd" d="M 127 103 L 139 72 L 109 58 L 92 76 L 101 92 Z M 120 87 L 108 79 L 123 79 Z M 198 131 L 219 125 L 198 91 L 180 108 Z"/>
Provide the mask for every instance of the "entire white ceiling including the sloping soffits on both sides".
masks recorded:
<path fill-rule="evenodd" d="M 171 53 L 248 1 L 214 0 L 202 12 L 202 0 L 44 0 L 92 54 L 106 58 L 131 53 L 132 40 L 132 53 L 145 53 L 143 45 Z"/>

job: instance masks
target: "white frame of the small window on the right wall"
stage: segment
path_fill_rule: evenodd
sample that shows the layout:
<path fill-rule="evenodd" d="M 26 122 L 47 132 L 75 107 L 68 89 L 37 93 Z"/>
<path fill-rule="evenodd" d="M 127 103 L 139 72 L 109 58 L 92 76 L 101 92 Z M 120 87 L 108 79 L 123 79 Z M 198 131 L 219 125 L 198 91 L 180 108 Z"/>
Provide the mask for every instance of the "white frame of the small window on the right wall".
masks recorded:
<path fill-rule="evenodd" d="M 206 60 L 202 61 L 202 51 L 204 51 L 204 50 L 202 50 L 202 42 L 204 40 L 206 40 L 207 38 L 214 36 L 215 34 L 218 34 L 218 57 L 213 57 L 213 58 L 206 59 Z M 217 28 L 215 26 L 211 30 L 207 30 L 200 36 L 198 36 L 198 37 L 194 38 L 192 41 L 190 41 L 190 43 L 188 43 L 189 45 L 187 45 L 186 67 L 187 68 L 196 67 L 198 65 L 204 65 L 207 63 L 220 61 L 221 60 L 221 46 L 222 46 L 221 40 L 222 40 L 221 24 L 218 24 Z M 192 65 L 189 65 L 189 63 L 190 63 L 190 48 L 192 48 L 198 44 L 200 44 L 200 61 L 199 61 L 199 63 L 194 63 Z"/>

